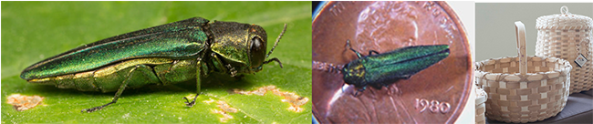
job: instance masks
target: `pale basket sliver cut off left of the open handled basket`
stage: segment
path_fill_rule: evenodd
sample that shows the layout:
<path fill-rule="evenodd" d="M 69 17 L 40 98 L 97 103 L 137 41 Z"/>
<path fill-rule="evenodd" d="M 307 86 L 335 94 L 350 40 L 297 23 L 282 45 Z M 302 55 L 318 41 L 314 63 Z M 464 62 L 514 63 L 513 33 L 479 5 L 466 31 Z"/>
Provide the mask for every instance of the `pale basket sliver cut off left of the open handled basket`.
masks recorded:
<path fill-rule="evenodd" d="M 484 113 L 486 112 L 486 99 L 488 95 L 484 91 L 484 89 L 476 87 L 475 88 L 475 123 L 476 124 L 485 124 L 486 117 Z"/>

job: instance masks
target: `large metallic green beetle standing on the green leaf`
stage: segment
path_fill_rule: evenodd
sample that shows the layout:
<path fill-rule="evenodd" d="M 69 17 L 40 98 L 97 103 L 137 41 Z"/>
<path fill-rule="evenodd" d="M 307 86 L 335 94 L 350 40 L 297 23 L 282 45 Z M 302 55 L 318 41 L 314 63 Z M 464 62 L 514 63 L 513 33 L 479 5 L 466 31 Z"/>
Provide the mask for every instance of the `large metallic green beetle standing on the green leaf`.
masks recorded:
<path fill-rule="evenodd" d="M 267 35 L 262 26 L 236 22 L 209 21 L 193 17 L 113 36 L 26 67 L 21 78 L 35 84 L 76 88 L 81 91 L 115 93 L 111 102 L 82 112 L 93 112 L 116 103 L 126 88 L 169 85 L 196 80 L 200 94 L 201 78 L 210 73 L 231 77 L 255 74 L 264 64 L 276 61 L 272 49 L 265 54 Z"/>

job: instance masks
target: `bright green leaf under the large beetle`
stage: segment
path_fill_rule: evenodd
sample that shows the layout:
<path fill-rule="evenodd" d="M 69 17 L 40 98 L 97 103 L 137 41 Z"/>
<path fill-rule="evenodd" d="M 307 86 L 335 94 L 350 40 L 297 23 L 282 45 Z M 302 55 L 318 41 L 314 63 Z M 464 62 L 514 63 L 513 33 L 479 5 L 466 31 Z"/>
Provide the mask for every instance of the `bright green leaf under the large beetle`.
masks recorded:
<path fill-rule="evenodd" d="M 229 93 L 276 86 L 280 91 L 311 98 L 311 2 L 2 2 L 2 123 L 220 123 L 216 102 L 231 108 L 228 123 L 310 123 L 311 100 L 288 110 L 283 97 Z M 268 50 L 288 24 L 286 34 L 265 65 L 255 75 L 235 79 L 213 74 L 201 85 L 201 96 L 192 108 L 183 97 L 193 98 L 195 82 L 171 86 L 126 89 L 116 104 L 81 113 L 108 103 L 114 92 L 83 92 L 27 83 L 20 72 L 40 60 L 69 49 L 174 21 L 201 16 L 209 20 L 235 21 L 263 26 Z M 16 111 L 6 103 L 11 94 L 44 97 L 41 105 Z"/>

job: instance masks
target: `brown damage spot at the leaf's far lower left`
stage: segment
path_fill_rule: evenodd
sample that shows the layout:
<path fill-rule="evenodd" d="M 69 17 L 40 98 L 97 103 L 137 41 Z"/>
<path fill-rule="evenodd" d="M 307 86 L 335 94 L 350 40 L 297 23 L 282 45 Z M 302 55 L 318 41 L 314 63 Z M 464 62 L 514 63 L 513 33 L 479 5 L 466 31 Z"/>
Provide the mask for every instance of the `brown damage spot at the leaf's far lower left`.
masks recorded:
<path fill-rule="evenodd" d="M 18 111 L 33 109 L 43 101 L 43 98 L 39 96 L 25 96 L 20 94 L 10 95 L 6 99 L 6 103 L 13 105 Z"/>

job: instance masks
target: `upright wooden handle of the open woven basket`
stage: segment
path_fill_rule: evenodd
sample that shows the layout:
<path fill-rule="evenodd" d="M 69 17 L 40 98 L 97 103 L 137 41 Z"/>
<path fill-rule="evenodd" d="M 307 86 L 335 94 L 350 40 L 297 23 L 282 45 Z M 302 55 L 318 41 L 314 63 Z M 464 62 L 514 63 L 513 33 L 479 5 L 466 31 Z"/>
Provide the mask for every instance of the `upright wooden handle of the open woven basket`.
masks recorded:
<path fill-rule="evenodd" d="M 525 25 L 521 21 L 515 22 L 516 45 L 519 53 L 519 73 L 525 75 L 527 72 L 527 56 L 525 53 Z"/>

